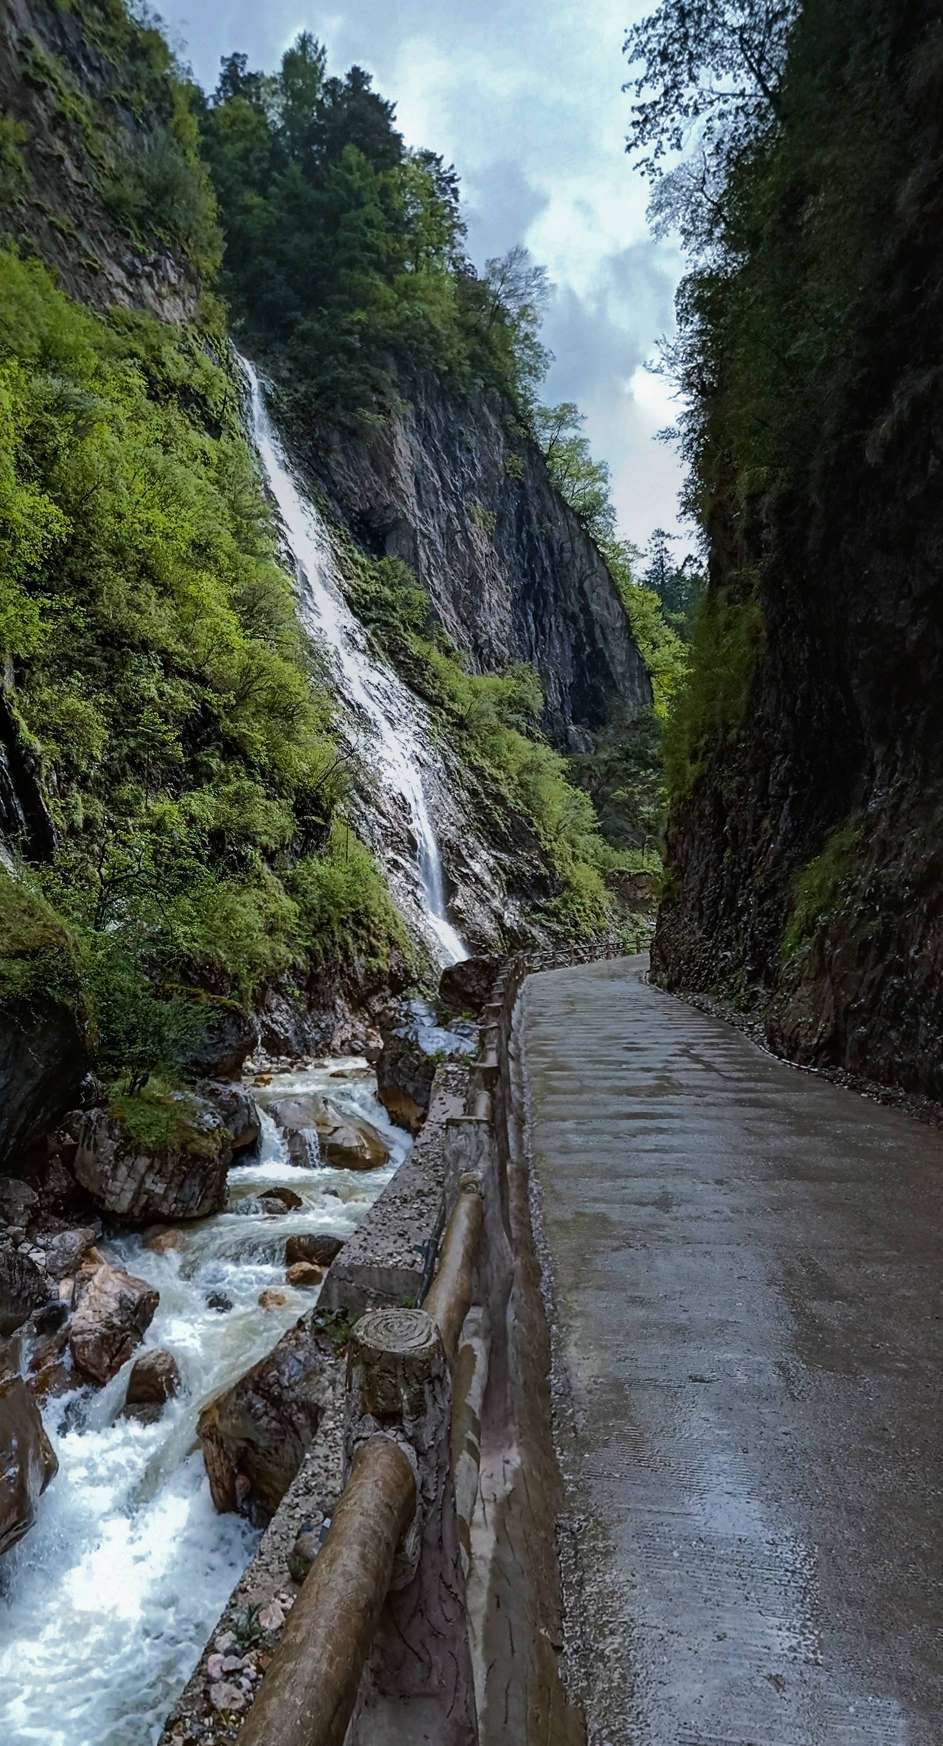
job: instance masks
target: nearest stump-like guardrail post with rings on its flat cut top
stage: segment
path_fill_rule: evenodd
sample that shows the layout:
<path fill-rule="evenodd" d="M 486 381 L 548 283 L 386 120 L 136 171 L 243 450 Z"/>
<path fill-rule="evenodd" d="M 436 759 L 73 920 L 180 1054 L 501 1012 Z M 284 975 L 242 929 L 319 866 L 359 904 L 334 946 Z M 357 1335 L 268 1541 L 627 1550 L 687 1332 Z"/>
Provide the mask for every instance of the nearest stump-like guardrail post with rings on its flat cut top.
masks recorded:
<path fill-rule="evenodd" d="M 451 1467 L 452 1385 L 424 1310 L 372 1310 L 348 1348 L 346 1463 L 395 1439 L 416 1516 L 363 1673 L 348 1746 L 477 1746 L 475 1685 Z"/>

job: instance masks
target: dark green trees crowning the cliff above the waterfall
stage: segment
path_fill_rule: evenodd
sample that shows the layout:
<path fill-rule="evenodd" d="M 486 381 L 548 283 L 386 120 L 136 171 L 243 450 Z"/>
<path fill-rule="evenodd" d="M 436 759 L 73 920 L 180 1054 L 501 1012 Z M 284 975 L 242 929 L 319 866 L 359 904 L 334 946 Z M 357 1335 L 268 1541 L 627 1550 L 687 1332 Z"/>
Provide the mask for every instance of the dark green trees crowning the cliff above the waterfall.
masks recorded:
<path fill-rule="evenodd" d="M 203 145 L 225 230 L 224 290 L 292 396 L 330 417 L 388 412 L 431 367 L 475 375 L 524 410 L 547 368 L 547 274 L 526 250 L 465 257 L 458 176 L 407 150 L 393 105 L 353 66 L 327 75 L 306 31 L 276 73 L 224 59 Z"/>

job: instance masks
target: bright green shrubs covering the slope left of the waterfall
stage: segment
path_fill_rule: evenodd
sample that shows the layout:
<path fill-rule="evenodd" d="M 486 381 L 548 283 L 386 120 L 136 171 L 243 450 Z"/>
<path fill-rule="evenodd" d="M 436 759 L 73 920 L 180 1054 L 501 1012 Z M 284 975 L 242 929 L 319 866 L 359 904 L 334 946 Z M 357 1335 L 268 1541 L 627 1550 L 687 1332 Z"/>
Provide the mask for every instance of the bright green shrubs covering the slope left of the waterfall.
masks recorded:
<path fill-rule="evenodd" d="M 0 255 L 0 653 L 59 836 L 42 889 L 2 873 L 0 999 L 61 985 L 136 1095 L 204 992 L 384 957 L 398 924 L 367 850 L 339 871 L 330 709 L 197 337 Z"/>

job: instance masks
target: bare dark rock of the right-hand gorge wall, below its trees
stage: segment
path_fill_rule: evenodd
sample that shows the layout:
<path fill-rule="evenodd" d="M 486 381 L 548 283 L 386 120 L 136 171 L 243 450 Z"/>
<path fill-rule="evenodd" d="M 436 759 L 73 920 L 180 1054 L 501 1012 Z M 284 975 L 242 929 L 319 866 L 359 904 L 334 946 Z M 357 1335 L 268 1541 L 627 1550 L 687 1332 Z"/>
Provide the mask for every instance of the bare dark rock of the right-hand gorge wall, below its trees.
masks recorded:
<path fill-rule="evenodd" d="M 870 215 L 877 265 L 859 274 L 861 365 L 849 372 L 833 346 L 802 492 L 744 506 L 728 478 L 712 503 L 712 634 L 676 773 L 653 973 L 763 1014 L 795 1060 L 943 1098 L 943 42 L 931 14 L 885 3 L 864 21 L 878 124 L 894 133 Z M 850 84 L 835 105 L 838 140 L 859 101 Z"/>

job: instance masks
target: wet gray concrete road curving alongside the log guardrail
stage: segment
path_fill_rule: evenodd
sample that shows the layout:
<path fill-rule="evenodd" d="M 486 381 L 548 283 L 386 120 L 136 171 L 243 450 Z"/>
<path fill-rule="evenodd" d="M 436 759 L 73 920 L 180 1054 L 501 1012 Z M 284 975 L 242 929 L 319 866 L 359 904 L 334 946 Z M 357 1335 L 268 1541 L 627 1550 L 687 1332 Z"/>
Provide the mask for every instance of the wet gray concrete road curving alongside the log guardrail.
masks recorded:
<path fill-rule="evenodd" d="M 943 1746 L 943 1138 L 643 971 L 520 1032 L 590 1739 Z"/>

